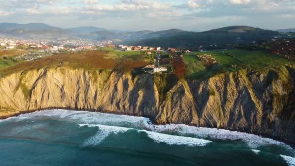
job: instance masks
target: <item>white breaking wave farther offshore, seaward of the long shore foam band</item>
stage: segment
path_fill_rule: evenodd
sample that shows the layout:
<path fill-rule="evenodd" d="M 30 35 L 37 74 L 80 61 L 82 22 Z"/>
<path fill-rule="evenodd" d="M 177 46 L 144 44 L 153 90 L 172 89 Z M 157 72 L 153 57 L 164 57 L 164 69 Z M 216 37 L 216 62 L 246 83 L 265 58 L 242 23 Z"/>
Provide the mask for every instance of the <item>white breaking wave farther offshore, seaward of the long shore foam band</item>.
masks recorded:
<path fill-rule="evenodd" d="M 111 133 L 124 133 L 129 130 L 135 130 L 137 132 L 144 132 L 147 133 L 147 136 L 152 139 L 156 143 L 165 143 L 168 145 L 186 145 L 189 147 L 203 147 L 209 144 L 212 141 L 198 139 L 193 137 L 185 137 L 185 136 L 178 136 L 178 135 L 169 135 L 164 133 L 155 133 L 146 130 L 136 130 L 131 128 L 125 127 L 117 127 L 117 126 L 105 126 L 105 125 L 91 125 L 91 124 L 79 124 L 80 127 L 88 126 L 88 127 L 98 127 L 99 131 L 96 135 L 88 138 L 84 141 L 83 146 L 89 145 L 98 145 L 101 143 L 107 136 Z"/>

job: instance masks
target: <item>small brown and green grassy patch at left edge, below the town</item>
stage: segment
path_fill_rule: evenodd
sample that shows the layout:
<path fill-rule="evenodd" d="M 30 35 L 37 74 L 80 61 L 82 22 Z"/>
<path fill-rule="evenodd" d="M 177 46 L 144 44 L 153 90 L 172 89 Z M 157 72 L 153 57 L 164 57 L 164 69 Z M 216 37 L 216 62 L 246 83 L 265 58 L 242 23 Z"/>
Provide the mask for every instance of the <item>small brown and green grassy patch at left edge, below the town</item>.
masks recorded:
<path fill-rule="evenodd" d="M 0 50 L 0 70 L 22 63 L 22 60 L 17 60 L 15 57 L 20 56 L 25 52 L 26 51 L 19 50 Z"/>

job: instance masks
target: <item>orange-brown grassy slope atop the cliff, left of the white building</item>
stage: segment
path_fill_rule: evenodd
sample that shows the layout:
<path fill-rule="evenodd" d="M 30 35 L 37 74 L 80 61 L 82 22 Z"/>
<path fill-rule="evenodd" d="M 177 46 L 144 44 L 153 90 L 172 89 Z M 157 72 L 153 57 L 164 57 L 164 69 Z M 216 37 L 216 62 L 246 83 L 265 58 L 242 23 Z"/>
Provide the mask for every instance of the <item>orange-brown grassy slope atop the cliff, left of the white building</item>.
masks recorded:
<path fill-rule="evenodd" d="M 124 55 L 115 56 L 116 53 L 117 51 L 113 50 L 93 50 L 57 54 L 46 58 L 19 63 L 15 66 L 2 68 L 0 69 L 0 75 L 4 76 L 13 72 L 46 67 L 68 67 L 73 69 L 82 68 L 86 70 L 118 69 L 126 72 L 131 71 L 133 68 L 142 68 L 149 65 L 149 60 L 144 54 L 132 55 L 124 52 Z"/>

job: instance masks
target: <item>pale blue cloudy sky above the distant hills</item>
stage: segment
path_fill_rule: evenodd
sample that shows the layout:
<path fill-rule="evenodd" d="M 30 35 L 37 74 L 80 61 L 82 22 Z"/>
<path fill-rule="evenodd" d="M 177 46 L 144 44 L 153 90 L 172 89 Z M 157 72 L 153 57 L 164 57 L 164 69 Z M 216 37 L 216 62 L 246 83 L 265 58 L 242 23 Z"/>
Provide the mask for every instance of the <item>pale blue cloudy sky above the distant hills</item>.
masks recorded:
<path fill-rule="evenodd" d="M 231 25 L 277 30 L 295 28 L 295 0 L 0 0 L 0 22 L 122 31 Z"/>

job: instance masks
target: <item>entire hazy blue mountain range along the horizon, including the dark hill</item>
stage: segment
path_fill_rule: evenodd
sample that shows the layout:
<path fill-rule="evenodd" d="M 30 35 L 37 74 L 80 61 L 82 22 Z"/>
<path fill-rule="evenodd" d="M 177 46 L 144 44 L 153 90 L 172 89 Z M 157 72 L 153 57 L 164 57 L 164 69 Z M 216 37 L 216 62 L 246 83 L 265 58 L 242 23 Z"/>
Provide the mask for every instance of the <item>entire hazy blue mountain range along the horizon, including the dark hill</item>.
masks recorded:
<path fill-rule="evenodd" d="M 292 30 L 292 29 L 290 29 Z M 290 31 L 284 30 L 284 31 Z M 0 36 L 56 39 L 80 38 L 91 40 L 112 40 L 116 44 L 148 45 L 161 47 L 197 48 L 199 45 L 226 45 L 237 42 L 253 42 L 271 39 L 277 31 L 263 30 L 249 26 L 230 26 L 205 32 L 189 32 L 180 29 L 165 31 L 117 31 L 98 27 L 77 27 L 62 29 L 43 23 L 0 23 Z"/>

